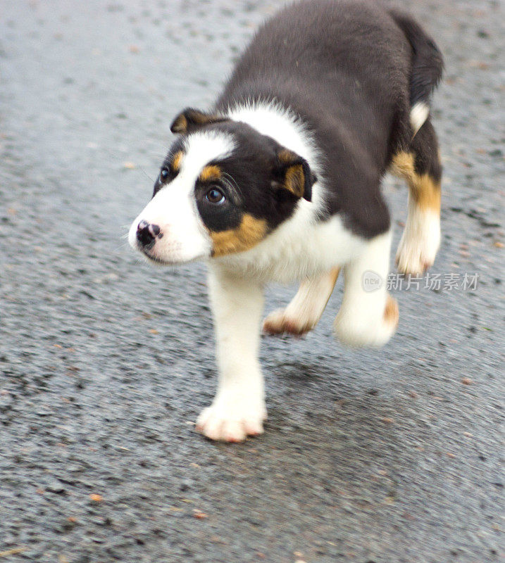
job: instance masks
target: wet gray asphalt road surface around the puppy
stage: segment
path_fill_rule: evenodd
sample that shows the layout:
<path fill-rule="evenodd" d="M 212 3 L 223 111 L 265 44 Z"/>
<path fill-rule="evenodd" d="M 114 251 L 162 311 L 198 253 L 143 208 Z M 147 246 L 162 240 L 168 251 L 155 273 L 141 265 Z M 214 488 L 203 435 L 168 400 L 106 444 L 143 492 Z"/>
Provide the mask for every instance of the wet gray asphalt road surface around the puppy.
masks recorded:
<path fill-rule="evenodd" d="M 397 336 L 352 351 L 331 335 L 340 282 L 313 334 L 263 339 L 266 434 L 223 445 L 194 431 L 216 384 L 204 267 L 154 269 L 125 233 L 173 115 L 211 103 L 275 4 L 0 1 L 2 561 L 503 555 L 497 1 L 404 3 L 447 62 L 432 272 L 460 285 L 478 272 L 478 287 L 393 291 Z M 401 222 L 406 189 L 385 192 Z M 268 310 L 293 291 L 269 289 Z"/>

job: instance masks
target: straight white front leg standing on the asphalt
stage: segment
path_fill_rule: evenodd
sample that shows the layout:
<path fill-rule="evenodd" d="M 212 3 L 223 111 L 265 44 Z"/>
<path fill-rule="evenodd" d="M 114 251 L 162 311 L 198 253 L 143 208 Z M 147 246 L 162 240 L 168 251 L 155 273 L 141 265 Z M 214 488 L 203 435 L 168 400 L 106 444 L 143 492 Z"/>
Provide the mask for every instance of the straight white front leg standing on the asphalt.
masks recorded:
<path fill-rule="evenodd" d="M 239 442 L 261 434 L 266 419 L 258 360 L 263 289 L 213 269 L 209 296 L 216 330 L 218 391 L 212 405 L 198 417 L 197 430 L 212 440 Z"/>

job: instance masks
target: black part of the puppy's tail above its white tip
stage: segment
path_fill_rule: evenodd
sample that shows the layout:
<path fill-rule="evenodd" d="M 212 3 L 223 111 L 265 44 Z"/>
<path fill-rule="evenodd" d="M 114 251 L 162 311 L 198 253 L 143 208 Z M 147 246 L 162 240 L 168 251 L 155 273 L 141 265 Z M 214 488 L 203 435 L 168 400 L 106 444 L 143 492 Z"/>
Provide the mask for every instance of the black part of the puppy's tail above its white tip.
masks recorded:
<path fill-rule="evenodd" d="M 444 60 L 437 45 L 422 27 L 406 13 L 392 9 L 389 11 L 412 48 L 412 75 L 410 102 L 430 104 L 430 96 L 442 78 Z"/>

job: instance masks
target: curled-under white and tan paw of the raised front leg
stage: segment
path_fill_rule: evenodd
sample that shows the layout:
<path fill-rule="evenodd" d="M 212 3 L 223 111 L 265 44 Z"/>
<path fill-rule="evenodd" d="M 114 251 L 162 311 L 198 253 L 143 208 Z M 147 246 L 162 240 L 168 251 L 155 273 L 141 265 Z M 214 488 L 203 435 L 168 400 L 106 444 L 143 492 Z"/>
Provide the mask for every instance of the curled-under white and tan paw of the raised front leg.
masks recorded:
<path fill-rule="evenodd" d="M 347 346 L 380 348 L 397 331 L 398 320 L 398 303 L 387 296 L 384 312 L 377 320 L 370 318 L 366 320 L 364 317 L 360 320 L 356 316 L 351 316 L 349 311 L 339 312 L 333 328 L 337 339 Z"/>

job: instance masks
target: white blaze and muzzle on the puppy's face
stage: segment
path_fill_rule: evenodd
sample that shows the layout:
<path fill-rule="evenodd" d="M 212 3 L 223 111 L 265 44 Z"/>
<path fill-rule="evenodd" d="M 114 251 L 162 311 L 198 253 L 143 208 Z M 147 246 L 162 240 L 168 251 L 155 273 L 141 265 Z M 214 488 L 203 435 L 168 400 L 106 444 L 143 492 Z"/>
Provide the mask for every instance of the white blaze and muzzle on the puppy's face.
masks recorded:
<path fill-rule="evenodd" d="M 198 213 L 194 184 L 211 160 L 224 158 L 234 148 L 232 137 L 219 132 L 199 132 L 185 141 L 180 172 L 163 186 L 132 223 L 130 244 L 136 248 L 140 221 L 161 229 L 150 254 L 162 262 L 188 262 L 211 254 L 212 241 Z"/>

